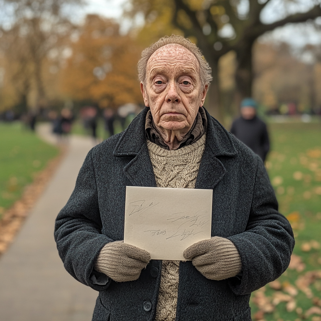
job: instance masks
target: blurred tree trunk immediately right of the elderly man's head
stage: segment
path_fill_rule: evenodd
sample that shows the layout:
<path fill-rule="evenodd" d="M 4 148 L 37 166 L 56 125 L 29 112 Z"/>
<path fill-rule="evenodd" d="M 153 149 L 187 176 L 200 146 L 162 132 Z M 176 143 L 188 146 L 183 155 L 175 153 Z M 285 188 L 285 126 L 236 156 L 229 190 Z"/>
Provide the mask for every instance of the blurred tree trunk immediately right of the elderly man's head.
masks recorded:
<path fill-rule="evenodd" d="M 212 60 L 211 62 L 209 61 L 209 64 L 212 68 L 213 80 L 208 88 L 204 107 L 211 114 L 211 116 L 216 118 L 222 125 L 224 125 L 224 110 L 221 106 L 220 99 L 218 61 Z"/>

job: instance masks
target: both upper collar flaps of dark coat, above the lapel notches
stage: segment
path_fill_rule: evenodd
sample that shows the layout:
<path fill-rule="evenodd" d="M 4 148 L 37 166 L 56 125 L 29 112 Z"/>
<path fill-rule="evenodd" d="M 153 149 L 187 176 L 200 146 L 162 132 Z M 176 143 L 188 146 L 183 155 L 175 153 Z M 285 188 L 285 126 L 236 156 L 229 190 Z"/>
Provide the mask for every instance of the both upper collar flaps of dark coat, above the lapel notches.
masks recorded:
<path fill-rule="evenodd" d="M 204 110 L 207 118 L 205 145 L 209 146 L 213 156 L 236 156 L 237 150 L 232 142 L 231 134 L 205 108 Z M 148 111 L 149 108 L 145 107 L 122 133 L 114 149 L 114 156 L 137 155 L 142 146 L 146 144 L 145 123 Z"/>

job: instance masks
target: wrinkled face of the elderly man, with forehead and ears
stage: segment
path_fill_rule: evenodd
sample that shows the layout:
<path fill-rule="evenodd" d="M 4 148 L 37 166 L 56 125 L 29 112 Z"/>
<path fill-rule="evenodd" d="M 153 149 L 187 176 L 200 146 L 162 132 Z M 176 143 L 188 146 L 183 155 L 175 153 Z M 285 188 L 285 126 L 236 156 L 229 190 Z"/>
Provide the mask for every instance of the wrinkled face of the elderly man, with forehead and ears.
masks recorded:
<path fill-rule="evenodd" d="M 189 129 L 203 106 L 199 63 L 185 47 L 170 44 L 156 50 L 147 63 L 145 106 L 151 108 L 155 124 L 167 130 Z"/>

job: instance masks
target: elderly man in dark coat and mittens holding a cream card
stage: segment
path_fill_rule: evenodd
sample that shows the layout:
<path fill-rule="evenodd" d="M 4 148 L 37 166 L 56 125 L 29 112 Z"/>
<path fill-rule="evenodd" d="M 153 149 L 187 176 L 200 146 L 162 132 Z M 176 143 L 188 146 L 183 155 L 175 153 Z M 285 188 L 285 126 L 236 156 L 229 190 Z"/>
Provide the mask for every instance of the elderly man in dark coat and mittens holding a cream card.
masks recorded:
<path fill-rule="evenodd" d="M 138 70 L 146 108 L 88 153 L 57 217 L 65 268 L 100 291 L 94 321 L 251 320 L 251 292 L 294 246 L 264 165 L 202 107 L 211 70 L 189 40 L 160 39 Z M 122 241 L 126 186 L 212 189 L 212 238 L 188 261 L 150 260 Z"/>

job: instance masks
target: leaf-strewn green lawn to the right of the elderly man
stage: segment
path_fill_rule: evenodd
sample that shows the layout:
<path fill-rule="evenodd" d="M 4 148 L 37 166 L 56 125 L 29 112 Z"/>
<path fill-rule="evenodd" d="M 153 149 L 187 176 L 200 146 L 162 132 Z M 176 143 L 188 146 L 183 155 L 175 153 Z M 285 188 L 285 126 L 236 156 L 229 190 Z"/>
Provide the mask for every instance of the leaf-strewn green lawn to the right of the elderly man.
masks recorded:
<path fill-rule="evenodd" d="M 287 271 L 252 294 L 252 318 L 321 321 L 321 124 L 269 128 L 266 168 L 296 245 Z"/>

